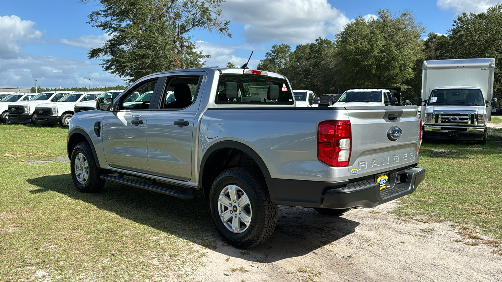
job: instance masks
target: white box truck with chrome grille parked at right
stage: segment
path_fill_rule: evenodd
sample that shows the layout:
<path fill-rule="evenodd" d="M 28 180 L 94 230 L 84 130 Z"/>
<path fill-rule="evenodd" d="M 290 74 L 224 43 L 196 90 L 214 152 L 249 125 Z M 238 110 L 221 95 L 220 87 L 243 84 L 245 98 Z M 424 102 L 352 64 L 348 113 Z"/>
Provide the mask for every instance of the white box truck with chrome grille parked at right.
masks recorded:
<path fill-rule="evenodd" d="M 495 59 L 424 61 L 421 106 L 424 139 L 486 143 L 493 98 Z"/>

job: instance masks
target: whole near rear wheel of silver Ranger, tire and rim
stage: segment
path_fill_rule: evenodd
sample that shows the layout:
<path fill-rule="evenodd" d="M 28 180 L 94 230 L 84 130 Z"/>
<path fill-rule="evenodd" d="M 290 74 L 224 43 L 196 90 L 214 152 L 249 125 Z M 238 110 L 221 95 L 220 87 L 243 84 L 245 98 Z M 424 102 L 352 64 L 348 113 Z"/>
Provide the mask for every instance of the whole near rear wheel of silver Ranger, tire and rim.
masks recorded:
<path fill-rule="evenodd" d="M 255 169 L 238 167 L 220 173 L 211 186 L 209 205 L 218 233 L 238 248 L 265 242 L 276 228 L 277 205 Z"/>

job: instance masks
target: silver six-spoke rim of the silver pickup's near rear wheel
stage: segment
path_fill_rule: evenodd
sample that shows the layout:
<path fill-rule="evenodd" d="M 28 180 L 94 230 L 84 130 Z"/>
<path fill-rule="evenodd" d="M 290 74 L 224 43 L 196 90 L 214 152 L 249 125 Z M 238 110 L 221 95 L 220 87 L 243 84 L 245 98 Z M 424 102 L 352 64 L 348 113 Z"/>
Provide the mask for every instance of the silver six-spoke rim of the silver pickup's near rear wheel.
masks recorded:
<path fill-rule="evenodd" d="M 249 197 L 236 185 L 228 185 L 218 197 L 218 212 L 223 225 L 233 233 L 246 231 L 253 211 Z"/>

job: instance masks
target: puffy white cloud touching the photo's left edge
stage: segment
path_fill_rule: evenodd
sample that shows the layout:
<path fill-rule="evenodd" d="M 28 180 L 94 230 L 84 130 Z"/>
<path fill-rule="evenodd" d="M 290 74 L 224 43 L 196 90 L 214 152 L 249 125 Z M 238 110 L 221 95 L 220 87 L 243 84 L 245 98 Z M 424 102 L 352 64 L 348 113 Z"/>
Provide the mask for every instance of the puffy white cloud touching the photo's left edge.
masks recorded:
<path fill-rule="evenodd" d="M 22 51 L 19 41 L 42 37 L 34 25 L 35 22 L 23 21 L 18 16 L 0 17 L 0 58 L 16 58 Z"/>

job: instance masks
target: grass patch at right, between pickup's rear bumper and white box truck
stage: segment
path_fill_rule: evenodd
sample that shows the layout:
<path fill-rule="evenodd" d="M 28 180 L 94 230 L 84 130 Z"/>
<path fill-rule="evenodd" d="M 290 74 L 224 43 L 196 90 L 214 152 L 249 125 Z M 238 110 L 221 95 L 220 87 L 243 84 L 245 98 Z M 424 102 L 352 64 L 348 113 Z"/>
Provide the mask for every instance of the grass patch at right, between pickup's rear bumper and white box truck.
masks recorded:
<path fill-rule="evenodd" d="M 480 240 L 471 236 L 476 231 L 502 239 L 500 133 L 490 130 L 483 146 L 475 142 L 423 143 L 419 165 L 427 169 L 425 181 L 415 193 L 402 198 L 393 213 L 423 222 L 453 222 L 461 232 L 470 232 L 466 239 Z M 486 243 L 500 246 L 493 240 Z"/>

